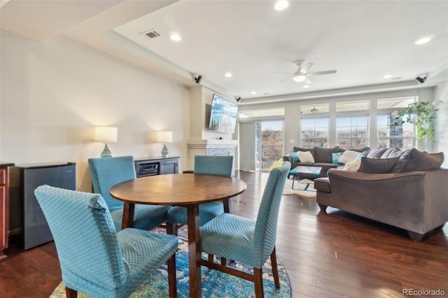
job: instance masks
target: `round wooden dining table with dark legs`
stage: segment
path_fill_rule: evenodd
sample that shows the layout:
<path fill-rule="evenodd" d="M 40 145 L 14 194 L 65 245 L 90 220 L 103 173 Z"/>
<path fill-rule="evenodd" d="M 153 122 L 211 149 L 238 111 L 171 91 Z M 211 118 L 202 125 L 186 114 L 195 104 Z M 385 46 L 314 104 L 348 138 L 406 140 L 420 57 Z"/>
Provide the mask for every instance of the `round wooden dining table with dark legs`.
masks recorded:
<path fill-rule="evenodd" d="M 124 201 L 123 229 L 132 227 L 135 204 L 184 206 L 188 209 L 188 267 L 190 297 L 202 297 L 199 205 L 228 199 L 246 190 L 239 178 L 194 173 L 146 176 L 111 187 L 111 196 Z"/>

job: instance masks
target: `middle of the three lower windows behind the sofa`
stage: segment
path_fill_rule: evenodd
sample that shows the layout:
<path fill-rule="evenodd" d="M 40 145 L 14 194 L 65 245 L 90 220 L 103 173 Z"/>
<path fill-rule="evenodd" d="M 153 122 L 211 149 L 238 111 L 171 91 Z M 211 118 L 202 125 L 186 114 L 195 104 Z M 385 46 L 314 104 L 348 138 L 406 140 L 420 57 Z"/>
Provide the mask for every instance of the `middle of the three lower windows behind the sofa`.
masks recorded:
<path fill-rule="evenodd" d="M 343 149 L 369 146 L 368 116 L 337 117 L 336 143 Z"/>

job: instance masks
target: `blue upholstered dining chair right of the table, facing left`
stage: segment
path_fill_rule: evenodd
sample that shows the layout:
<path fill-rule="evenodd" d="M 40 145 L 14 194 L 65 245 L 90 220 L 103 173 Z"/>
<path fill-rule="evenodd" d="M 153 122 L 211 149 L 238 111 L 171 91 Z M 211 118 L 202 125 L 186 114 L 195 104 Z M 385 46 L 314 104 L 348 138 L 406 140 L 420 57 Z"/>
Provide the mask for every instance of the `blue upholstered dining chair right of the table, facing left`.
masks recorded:
<path fill-rule="evenodd" d="M 269 255 L 275 287 L 280 288 L 275 255 L 276 227 L 281 195 L 289 170 L 290 162 L 284 162 L 283 166 L 272 169 L 269 173 L 256 221 L 223 213 L 201 227 L 201 249 L 204 253 L 251 266 L 253 275 L 211 260 L 203 259 L 201 264 L 253 281 L 255 297 L 263 297 L 262 267 Z"/>

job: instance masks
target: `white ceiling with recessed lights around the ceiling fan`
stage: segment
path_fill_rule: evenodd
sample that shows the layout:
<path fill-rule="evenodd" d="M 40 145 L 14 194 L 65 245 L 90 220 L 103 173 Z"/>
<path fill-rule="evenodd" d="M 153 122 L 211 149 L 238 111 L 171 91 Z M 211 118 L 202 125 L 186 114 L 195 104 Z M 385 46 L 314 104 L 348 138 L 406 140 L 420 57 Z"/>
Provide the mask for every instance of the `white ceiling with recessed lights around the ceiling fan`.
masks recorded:
<path fill-rule="evenodd" d="M 186 85 L 200 74 L 202 85 L 241 103 L 385 83 L 417 87 L 416 76 L 428 73 L 430 85 L 446 72 L 448 1 L 289 2 L 276 11 L 270 0 L 12 0 L 0 17 L 3 29 L 37 41 L 62 34 Z M 142 35 L 150 30 L 160 36 Z M 172 32 L 183 39 L 171 41 Z M 423 36 L 433 39 L 415 45 Z M 297 59 L 314 62 L 310 71 L 337 73 L 311 77 L 308 89 L 272 74 L 294 73 Z"/>

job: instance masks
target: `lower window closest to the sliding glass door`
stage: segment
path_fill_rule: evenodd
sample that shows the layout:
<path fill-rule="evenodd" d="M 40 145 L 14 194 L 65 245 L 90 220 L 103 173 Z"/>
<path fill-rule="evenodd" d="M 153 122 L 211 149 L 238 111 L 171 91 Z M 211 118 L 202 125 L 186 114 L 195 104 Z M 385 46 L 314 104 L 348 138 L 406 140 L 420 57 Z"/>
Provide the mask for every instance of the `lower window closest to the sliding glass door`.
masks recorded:
<path fill-rule="evenodd" d="M 328 147 L 328 117 L 302 118 L 301 147 Z"/>

